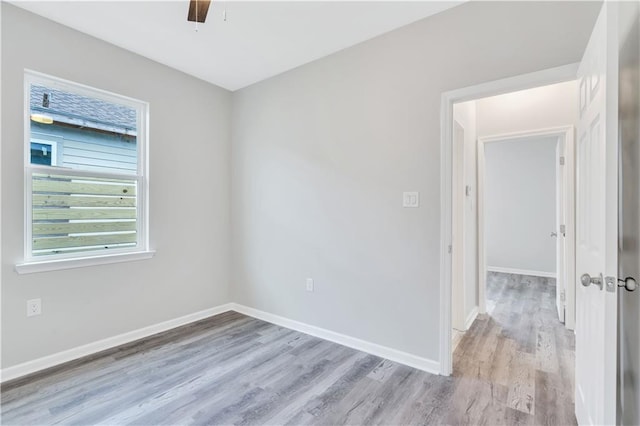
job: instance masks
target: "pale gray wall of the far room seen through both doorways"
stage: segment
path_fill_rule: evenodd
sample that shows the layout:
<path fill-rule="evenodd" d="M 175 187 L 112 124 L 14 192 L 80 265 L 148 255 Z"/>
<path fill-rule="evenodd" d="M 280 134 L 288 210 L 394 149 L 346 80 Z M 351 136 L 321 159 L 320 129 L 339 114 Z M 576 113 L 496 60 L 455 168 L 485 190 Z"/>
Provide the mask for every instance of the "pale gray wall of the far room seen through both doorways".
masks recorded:
<path fill-rule="evenodd" d="M 556 272 L 557 138 L 485 144 L 487 268 Z"/>

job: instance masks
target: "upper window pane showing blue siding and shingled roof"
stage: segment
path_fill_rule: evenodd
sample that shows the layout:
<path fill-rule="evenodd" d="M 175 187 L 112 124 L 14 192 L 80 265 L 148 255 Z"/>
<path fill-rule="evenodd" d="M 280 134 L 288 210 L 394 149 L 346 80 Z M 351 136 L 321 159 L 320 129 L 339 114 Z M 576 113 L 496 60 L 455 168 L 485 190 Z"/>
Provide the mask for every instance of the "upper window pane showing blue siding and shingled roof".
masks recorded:
<path fill-rule="evenodd" d="M 134 108 L 42 85 L 31 85 L 31 164 L 112 173 L 137 172 Z M 56 144 L 56 159 L 34 150 Z M 42 145 L 42 144 L 41 144 Z"/>

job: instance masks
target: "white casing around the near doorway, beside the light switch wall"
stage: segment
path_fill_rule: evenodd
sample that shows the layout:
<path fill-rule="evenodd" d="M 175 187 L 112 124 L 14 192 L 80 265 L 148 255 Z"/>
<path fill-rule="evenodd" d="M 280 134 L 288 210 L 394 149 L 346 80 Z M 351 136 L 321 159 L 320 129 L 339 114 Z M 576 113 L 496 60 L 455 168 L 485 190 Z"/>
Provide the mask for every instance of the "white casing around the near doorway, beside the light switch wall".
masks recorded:
<path fill-rule="evenodd" d="M 451 375 L 453 104 L 575 80 L 578 63 L 444 92 L 440 103 L 440 374 Z"/>

